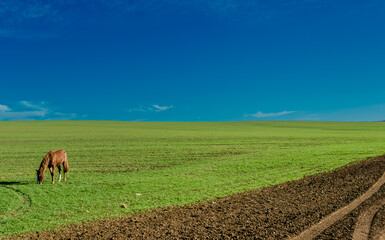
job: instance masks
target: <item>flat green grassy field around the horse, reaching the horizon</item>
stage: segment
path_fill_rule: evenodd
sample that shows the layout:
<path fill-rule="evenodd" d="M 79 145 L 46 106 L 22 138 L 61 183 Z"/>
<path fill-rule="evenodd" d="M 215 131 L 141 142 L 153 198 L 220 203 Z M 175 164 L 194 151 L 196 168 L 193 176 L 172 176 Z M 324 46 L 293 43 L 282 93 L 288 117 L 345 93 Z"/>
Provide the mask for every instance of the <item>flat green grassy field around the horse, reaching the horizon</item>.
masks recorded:
<path fill-rule="evenodd" d="M 384 154 L 385 123 L 0 122 L 0 142 L 1 237 L 329 171 Z M 68 153 L 67 182 L 51 184 L 47 170 L 37 185 L 57 149 Z"/>

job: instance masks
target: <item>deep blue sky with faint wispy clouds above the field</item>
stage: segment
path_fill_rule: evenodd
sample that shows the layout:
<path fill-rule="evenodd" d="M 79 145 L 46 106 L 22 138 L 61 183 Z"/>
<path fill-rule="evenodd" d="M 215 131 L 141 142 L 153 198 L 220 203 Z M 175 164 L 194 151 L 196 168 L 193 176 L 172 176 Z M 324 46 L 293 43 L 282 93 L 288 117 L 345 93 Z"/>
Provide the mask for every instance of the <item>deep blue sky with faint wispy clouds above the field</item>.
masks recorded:
<path fill-rule="evenodd" d="M 3 0 L 0 120 L 385 120 L 380 0 Z"/>

